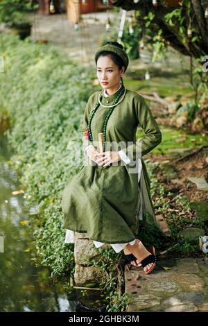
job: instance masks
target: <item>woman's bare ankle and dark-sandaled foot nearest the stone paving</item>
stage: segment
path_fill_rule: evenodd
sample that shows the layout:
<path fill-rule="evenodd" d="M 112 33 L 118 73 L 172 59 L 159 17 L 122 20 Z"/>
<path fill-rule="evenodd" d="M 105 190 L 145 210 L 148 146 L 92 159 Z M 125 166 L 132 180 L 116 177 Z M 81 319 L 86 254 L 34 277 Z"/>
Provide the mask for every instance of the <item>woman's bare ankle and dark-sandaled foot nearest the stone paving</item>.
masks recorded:
<path fill-rule="evenodd" d="M 136 239 L 135 244 L 133 244 L 133 245 L 130 245 L 130 243 L 128 243 L 128 245 L 125 246 L 125 250 L 128 250 L 128 252 L 132 253 L 132 255 L 137 257 L 137 261 L 139 261 L 139 263 L 142 263 L 142 266 L 144 268 L 144 273 L 148 274 L 148 273 L 150 273 L 150 271 L 153 271 L 153 269 L 156 266 L 155 255 L 152 255 L 151 252 L 149 252 L 144 247 L 143 243 L 141 243 L 141 241 L 139 239 Z M 149 257 L 149 259 L 147 257 Z M 143 262 L 143 260 L 144 260 L 144 262 Z M 150 260 L 150 262 L 148 262 L 148 260 Z M 146 265 L 143 264 L 143 263 L 145 263 L 145 261 L 147 261 Z M 136 265 L 136 266 L 138 266 L 138 265 Z M 140 264 L 140 266 L 141 266 L 141 264 Z"/>

